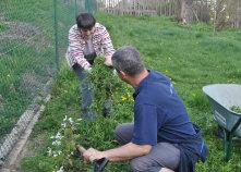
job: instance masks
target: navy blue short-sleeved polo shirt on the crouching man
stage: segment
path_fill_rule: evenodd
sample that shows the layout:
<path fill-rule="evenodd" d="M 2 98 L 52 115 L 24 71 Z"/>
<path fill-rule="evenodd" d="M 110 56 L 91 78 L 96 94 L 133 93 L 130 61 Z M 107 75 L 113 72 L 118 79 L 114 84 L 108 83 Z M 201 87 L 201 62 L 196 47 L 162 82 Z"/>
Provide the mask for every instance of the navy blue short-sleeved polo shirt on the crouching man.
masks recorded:
<path fill-rule="evenodd" d="M 195 135 L 185 107 L 170 79 L 156 71 L 148 72 L 133 94 L 132 143 L 153 146 L 160 142 L 180 144 Z"/>

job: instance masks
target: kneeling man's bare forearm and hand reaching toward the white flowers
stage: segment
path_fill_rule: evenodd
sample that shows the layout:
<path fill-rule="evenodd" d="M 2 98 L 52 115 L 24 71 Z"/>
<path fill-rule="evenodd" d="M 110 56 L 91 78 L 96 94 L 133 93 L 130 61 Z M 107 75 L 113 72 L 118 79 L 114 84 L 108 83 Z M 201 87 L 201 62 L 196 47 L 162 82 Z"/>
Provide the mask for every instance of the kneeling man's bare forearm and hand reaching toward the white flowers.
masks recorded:
<path fill-rule="evenodd" d="M 135 157 L 147 155 L 152 149 L 150 145 L 136 145 L 129 143 L 119 148 L 113 148 L 105 151 L 98 151 L 96 149 L 88 149 L 84 152 L 84 159 L 86 161 L 93 161 L 95 159 L 107 158 L 110 161 L 129 160 Z"/>

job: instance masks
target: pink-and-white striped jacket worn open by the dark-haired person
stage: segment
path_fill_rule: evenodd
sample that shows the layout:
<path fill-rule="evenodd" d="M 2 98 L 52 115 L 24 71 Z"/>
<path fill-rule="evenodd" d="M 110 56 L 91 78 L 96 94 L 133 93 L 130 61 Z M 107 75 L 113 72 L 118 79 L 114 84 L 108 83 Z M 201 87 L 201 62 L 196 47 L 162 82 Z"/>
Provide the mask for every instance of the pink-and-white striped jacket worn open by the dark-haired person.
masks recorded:
<path fill-rule="evenodd" d="M 106 27 L 96 23 L 94 29 L 92 40 L 96 54 L 111 57 L 115 49 Z M 69 30 L 69 47 L 65 54 L 70 66 L 73 66 L 75 63 L 79 63 L 84 70 L 88 70 L 92 66 L 84 58 L 85 45 L 84 35 L 80 32 L 76 24 L 73 25 Z"/>

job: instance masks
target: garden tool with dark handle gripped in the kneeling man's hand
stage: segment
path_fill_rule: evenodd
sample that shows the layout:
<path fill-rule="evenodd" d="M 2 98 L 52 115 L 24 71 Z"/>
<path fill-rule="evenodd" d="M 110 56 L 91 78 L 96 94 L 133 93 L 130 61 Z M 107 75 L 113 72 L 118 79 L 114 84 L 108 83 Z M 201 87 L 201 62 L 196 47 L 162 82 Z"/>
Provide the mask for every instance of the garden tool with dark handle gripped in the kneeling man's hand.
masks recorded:
<path fill-rule="evenodd" d="M 76 149 L 82 155 L 86 151 L 86 149 L 81 145 L 77 145 Z M 94 172 L 103 172 L 109 160 L 107 158 L 101 158 L 98 160 L 94 160 L 93 162 L 94 162 Z"/>

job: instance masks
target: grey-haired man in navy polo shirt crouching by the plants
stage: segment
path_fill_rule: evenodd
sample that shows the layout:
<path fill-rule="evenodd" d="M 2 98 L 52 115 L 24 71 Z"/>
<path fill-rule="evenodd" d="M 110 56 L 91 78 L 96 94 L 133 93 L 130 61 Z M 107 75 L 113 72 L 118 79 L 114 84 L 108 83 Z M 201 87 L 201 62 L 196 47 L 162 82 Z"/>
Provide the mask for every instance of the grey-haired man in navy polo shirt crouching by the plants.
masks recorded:
<path fill-rule="evenodd" d="M 85 160 L 131 160 L 134 172 L 194 171 L 196 161 L 205 160 L 207 148 L 170 79 L 146 70 L 133 47 L 118 49 L 112 65 L 135 89 L 134 123 L 116 128 L 121 147 L 106 151 L 91 148 L 84 153 Z"/>

